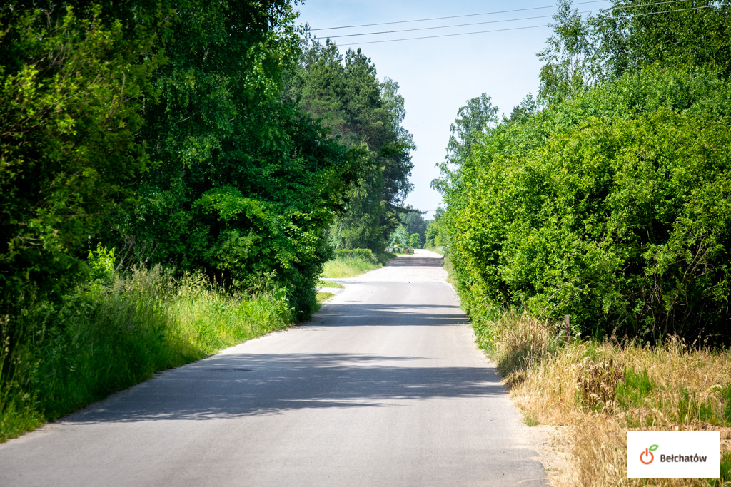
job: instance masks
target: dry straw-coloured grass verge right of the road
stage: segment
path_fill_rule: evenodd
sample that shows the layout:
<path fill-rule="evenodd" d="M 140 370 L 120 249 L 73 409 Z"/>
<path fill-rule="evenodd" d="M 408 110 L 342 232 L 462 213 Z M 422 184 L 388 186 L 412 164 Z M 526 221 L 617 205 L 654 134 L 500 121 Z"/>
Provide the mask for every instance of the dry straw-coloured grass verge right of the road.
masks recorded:
<path fill-rule="evenodd" d="M 565 426 L 576 486 L 643 486 L 627 479 L 627 431 L 720 431 L 720 479 L 652 479 L 654 486 L 731 485 L 731 355 L 670 337 L 564 343 L 561 325 L 506 312 L 475 323 L 529 426 Z M 556 484 L 558 485 L 558 484 Z"/>

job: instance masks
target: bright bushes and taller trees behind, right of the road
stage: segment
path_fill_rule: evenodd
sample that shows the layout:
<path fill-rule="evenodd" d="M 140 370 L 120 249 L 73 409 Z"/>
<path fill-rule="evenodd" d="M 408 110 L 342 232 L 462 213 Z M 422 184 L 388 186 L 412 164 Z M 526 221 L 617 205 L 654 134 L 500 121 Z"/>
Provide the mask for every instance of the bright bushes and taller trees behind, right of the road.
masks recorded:
<path fill-rule="evenodd" d="M 537 97 L 461 108 L 433 185 L 474 318 L 730 340 L 731 5 L 643 4 L 560 1 Z"/>

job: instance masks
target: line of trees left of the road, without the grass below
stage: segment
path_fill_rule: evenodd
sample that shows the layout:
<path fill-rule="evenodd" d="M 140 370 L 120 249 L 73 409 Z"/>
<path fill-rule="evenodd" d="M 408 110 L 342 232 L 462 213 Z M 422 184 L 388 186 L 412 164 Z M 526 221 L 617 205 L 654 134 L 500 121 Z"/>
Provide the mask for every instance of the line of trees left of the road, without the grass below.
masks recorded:
<path fill-rule="evenodd" d="M 382 247 L 411 188 L 404 100 L 294 20 L 284 0 L 1 9 L 3 313 L 83 280 L 101 243 L 306 315 L 326 232 Z"/>

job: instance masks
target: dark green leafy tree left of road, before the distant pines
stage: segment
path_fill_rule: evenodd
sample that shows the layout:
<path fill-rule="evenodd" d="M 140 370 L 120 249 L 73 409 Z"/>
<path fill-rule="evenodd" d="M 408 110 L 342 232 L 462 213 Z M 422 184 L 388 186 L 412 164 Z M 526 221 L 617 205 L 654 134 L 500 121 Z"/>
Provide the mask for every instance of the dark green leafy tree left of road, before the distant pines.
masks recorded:
<path fill-rule="evenodd" d="M 346 147 L 284 96 L 299 55 L 295 14 L 285 0 L 177 12 L 162 94 L 146 108 L 159 164 L 140 177 L 118 245 L 252 292 L 286 288 L 306 318 L 331 255 L 323 235 L 357 172 Z"/>

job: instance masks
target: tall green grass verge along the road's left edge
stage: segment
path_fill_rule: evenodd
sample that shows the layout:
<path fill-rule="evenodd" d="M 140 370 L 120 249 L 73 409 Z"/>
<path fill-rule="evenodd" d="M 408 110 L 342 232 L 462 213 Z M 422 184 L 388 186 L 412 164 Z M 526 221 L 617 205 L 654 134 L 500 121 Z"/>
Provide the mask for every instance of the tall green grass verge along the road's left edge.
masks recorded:
<path fill-rule="evenodd" d="M 0 350 L 0 442 L 290 321 L 284 291 L 228 294 L 159 268 L 29 304 L 12 323 L 21 334 L 12 356 Z"/>

